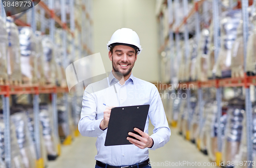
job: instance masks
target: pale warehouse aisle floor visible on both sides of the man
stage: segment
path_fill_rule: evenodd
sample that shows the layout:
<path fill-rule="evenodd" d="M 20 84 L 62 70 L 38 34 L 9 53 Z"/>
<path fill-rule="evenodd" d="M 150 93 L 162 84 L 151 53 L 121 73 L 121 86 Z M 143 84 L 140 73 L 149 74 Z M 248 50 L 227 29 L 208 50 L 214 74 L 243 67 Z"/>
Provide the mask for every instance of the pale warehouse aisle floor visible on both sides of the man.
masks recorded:
<path fill-rule="evenodd" d="M 152 132 L 153 126 L 150 125 Z M 155 151 L 150 150 L 150 159 L 152 167 L 206 167 L 206 166 L 172 166 L 172 162 L 179 163 L 187 161 L 192 162 L 208 162 L 207 156 L 200 153 L 196 146 L 177 134 L 177 130 L 171 128 L 172 135 L 170 141 L 163 147 Z M 95 147 L 96 138 L 82 137 L 75 138 L 71 146 L 63 146 L 61 156 L 56 161 L 49 162 L 48 168 L 93 168 L 95 166 L 94 156 L 96 155 Z M 161 166 L 162 162 L 162 166 Z M 167 165 L 165 164 L 167 163 Z M 157 165 L 159 164 L 159 166 Z M 207 166 L 211 168 L 215 166 Z"/>

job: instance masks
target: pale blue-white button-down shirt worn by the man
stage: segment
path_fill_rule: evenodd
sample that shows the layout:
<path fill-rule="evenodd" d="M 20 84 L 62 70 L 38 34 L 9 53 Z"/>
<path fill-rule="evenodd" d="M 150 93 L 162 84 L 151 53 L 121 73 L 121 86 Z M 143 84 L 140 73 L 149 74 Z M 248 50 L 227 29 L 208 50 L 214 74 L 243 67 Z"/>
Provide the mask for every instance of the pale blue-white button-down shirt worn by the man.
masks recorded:
<path fill-rule="evenodd" d="M 117 107 L 150 104 L 144 132 L 148 133 L 148 122 L 151 119 L 155 127 L 150 136 L 154 141 L 153 147 L 140 149 L 133 144 L 104 146 L 108 129 L 99 128 L 106 108 L 103 103 Z M 95 159 L 115 166 L 132 165 L 148 159 L 148 149 L 156 150 L 164 146 L 170 137 L 170 129 L 156 86 L 134 77 L 133 74 L 122 86 L 112 73 L 109 77 L 90 84 L 84 91 L 78 129 L 83 136 L 97 137 L 98 152 Z"/>

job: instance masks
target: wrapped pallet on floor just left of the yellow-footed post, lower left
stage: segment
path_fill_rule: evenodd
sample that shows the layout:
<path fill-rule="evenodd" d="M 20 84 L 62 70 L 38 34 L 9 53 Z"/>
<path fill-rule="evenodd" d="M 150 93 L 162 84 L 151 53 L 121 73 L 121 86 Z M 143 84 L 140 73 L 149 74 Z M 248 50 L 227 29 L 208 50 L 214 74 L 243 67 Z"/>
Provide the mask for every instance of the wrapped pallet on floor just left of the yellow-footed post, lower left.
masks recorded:
<path fill-rule="evenodd" d="M 11 111 L 12 113 L 15 111 Z M 26 168 L 34 168 L 36 166 L 35 146 L 32 143 L 30 132 L 28 130 L 26 114 L 20 112 L 11 115 L 11 120 L 15 125 L 16 137 L 22 161 Z"/>

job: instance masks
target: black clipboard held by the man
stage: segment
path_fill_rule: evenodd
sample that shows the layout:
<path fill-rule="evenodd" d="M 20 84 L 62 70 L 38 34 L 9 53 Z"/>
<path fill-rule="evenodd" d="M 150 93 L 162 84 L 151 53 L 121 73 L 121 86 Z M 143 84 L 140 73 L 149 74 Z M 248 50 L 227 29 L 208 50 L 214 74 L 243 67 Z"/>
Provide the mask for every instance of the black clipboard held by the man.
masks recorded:
<path fill-rule="evenodd" d="M 133 132 L 140 135 L 134 131 L 134 128 L 144 131 L 149 108 L 149 104 L 112 108 L 105 146 L 130 145 L 131 143 L 126 137 L 135 137 L 128 133 Z"/>

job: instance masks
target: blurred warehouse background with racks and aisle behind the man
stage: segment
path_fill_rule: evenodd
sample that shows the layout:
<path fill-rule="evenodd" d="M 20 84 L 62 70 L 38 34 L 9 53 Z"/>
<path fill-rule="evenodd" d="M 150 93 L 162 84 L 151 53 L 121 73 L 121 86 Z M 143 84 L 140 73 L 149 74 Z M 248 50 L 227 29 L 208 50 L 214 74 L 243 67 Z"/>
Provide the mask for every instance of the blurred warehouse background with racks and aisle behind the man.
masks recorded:
<path fill-rule="evenodd" d="M 15 3 L 0 4 L 0 168 L 95 167 L 82 94 L 112 70 L 122 27 L 139 35 L 133 75 L 158 88 L 172 131 L 152 167 L 256 167 L 255 1 Z"/>

